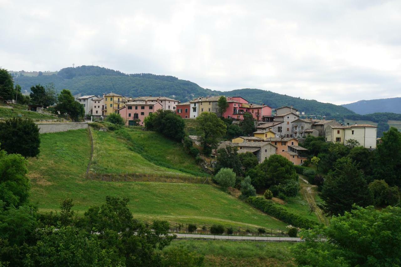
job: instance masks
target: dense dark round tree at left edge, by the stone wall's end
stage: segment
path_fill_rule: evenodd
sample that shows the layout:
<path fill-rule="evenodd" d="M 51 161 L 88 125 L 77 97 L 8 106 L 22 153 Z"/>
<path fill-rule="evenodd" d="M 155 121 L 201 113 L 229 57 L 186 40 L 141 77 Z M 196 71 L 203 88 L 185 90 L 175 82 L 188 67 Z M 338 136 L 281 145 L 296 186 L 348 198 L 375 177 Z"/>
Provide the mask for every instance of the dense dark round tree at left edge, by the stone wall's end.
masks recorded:
<path fill-rule="evenodd" d="M 0 143 L 8 154 L 34 157 L 41 144 L 39 128 L 31 119 L 7 119 L 0 122 Z"/>

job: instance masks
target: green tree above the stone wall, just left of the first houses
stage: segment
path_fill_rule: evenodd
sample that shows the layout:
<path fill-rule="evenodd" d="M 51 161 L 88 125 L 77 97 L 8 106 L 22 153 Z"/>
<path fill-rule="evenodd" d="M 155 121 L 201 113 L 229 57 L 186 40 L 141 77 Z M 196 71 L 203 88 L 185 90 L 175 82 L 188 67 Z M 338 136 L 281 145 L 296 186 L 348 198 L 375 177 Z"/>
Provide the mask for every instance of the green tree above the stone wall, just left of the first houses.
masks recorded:
<path fill-rule="evenodd" d="M 78 121 L 85 115 L 83 105 L 75 101 L 71 92 L 63 89 L 57 97 L 57 105 L 55 110 L 60 112 L 61 115 L 69 115 L 74 121 Z"/>

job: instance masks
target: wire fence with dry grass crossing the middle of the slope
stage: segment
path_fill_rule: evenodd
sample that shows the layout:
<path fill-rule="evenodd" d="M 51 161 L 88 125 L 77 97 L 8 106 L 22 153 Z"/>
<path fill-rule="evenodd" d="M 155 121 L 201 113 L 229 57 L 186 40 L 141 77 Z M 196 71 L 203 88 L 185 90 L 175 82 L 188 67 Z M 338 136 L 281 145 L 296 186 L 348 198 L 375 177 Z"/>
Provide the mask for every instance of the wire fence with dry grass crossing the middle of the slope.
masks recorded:
<path fill-rule="evenodd" d="M 171 182 L 190 184 L 211 184 L 209 177 L 182 176 L 169 174 L 138 174 L 138 173 L 103 173 L 87 172 L 86 178 L 105 182 Z"/>

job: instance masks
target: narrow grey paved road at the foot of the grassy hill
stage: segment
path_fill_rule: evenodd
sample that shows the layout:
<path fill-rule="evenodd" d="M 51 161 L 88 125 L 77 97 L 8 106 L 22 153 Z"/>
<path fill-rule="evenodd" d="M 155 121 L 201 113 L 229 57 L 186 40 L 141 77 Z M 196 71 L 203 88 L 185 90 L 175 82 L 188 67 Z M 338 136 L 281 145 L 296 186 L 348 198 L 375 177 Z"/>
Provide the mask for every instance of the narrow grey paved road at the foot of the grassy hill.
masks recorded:
<path fill-rule="evenodd" d="M 172 233 L 168 235 L 174 235 Z M 264 241 L 264 242 L 302 242 L 298 237 L 251 237 L 251 236 L 232 236 L 232 235 L 196 235 L 196 234 L 175 234 L 182 239 L 219 239 L 233 241 Z"/>

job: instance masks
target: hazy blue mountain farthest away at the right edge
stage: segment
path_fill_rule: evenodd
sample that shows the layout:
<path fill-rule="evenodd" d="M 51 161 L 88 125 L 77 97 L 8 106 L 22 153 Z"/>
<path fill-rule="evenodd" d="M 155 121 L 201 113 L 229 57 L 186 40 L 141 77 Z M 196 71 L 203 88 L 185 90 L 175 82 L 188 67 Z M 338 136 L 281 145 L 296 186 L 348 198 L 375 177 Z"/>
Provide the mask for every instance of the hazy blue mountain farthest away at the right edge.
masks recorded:
<path fill-rule="evenodd" d="M 344 104 L 342 106 L 362 115 L 377 112 L 401 114 L 401 97 L 360 100 L 358 102 Z"/>

